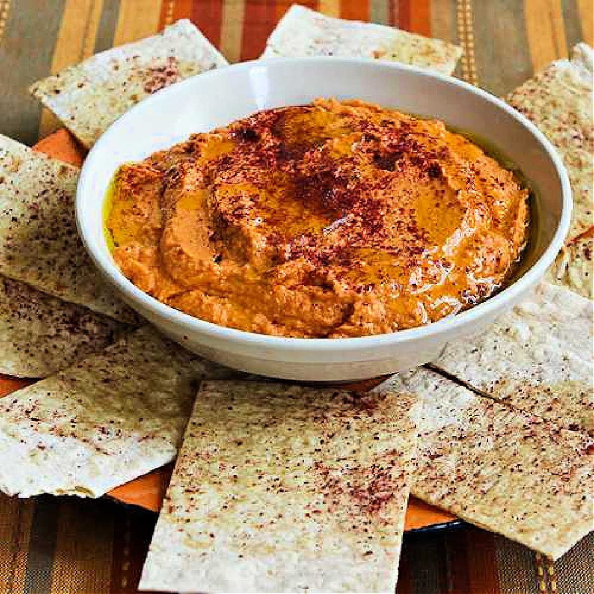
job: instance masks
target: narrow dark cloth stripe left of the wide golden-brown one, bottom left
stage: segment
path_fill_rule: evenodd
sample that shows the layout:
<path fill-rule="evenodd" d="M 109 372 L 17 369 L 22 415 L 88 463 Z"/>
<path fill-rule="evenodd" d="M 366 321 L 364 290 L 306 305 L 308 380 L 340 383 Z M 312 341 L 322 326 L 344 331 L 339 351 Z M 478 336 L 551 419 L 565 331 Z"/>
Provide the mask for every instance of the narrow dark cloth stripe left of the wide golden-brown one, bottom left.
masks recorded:
<path fill-rule="evenodd" d="M 59 499 L 37 498 L 29 545 L 29 558 L 24 591 L 27 594 L 48 594 L 52 583 L 53 554 L 58 532 Z"/>

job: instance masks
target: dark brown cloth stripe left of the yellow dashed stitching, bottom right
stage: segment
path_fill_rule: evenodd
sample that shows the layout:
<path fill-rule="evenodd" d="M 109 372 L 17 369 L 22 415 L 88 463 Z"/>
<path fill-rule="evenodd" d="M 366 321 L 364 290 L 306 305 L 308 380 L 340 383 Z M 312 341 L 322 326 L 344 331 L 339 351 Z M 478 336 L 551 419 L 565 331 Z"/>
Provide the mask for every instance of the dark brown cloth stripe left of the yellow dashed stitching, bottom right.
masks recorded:
<path fill-rule="evenodd" d="M 493 538 L 501 594 L 537 594 L 534 552 L 503 536 L 494 535 Z"/>

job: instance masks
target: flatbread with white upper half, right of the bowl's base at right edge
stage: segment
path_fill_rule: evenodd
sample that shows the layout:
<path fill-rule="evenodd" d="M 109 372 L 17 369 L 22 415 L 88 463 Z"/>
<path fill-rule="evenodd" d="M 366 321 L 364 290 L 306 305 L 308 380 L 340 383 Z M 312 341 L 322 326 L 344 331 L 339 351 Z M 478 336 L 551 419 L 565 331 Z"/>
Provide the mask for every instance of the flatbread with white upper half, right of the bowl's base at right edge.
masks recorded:
<path fill-rule="evenodd" d="M 474 390 L 594 435 L 593 304 L 542 283 L 475 339 L 449 343 L 432 365 Z"/>

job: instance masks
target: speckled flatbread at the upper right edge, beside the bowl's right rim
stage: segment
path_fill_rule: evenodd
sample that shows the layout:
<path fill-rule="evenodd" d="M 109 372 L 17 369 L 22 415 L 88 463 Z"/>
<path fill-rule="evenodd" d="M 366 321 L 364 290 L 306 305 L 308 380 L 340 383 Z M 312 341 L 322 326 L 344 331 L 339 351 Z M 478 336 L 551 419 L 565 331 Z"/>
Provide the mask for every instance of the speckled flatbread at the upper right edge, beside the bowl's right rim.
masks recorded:
<path fill-rule="evenodd" d="M 579 43 L 573 48 L 571 61 L 553 62 L 507 97 L 563 157 L 573 190 L 568 239 L 594 225 L 592 54 L 590 46 Z"/>

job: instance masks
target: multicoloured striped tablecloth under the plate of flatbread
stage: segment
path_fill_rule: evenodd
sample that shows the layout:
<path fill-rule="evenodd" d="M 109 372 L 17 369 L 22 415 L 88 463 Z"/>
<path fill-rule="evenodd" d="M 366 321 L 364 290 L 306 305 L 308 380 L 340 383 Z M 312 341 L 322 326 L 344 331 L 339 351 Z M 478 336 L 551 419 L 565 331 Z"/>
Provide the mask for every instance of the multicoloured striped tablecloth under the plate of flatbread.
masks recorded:
<path fill-rule="evenodd" d="M 291 4 L 277 0 L 0 0 L 0 132 L 26 144 L 60 127 L 26 92 L 92 53 L 188 17 L 231 62 L 256 58 Z M 334 16 L 462 45 L 456 74 L 503 96 L 571 46 L 592 45 L 590 0 L 318 0 Z M 1 463 L 1 461 L 0 461 Z M 156 515 L 109 500 L 0 495 L 0 594 L 136 592 Z M 594 592 L 594 536 L 556 563 L 471 526 L 405 536 L 399 594 Z"/>

